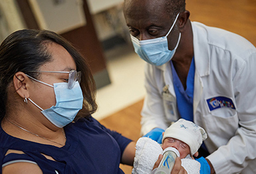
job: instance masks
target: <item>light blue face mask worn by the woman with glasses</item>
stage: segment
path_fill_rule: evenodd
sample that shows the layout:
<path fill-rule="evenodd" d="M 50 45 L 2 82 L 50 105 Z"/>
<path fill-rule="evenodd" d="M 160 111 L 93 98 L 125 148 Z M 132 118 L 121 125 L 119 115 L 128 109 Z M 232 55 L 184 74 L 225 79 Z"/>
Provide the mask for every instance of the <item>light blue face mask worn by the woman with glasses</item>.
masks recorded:
<path fill-rule="evenodd" d="M 27 75 L 28 76 L 28 75 Z M 32 78 L 31 76 L 28 76 Z M 32 78 L 36 80 L 35 78 Z M 42 84 L 46 84 L 41 82 L 40 80 L 36 80 Z M 65 82 L 55 83 L 54 86 L 50 84 L 46 84 L 47 86 L 51 86 L 54 88 L 55 96 L 56 96 L 56 105 L 50 107 L 49 109 L 42 109 L 34 101 L 28 98 L 36 107 L 41 109 L 41 113 L 56 127 L 65 127 L 65 125 L 71 123 L 78 111 L 83 107 L 83 92 L 79 86 L 79 82 L 75 82 L 73 88 L 69 89 L 68 84 Z"/>

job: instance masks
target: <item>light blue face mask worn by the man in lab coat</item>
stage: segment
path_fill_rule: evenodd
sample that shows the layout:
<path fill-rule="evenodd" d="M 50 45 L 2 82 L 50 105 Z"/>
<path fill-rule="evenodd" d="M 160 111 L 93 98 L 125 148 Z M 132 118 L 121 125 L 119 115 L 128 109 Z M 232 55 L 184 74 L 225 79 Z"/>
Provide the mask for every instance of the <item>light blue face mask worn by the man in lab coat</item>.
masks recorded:
<path fill-rule="evenodd" d="M 178 42 L 173 50 L 168 49 L 167 36 L 173 29 L 173 26 L 175 26 L 178 16 L 179 14 L 177 14 L 173 25 L 171 26 L 171 29 L 166 34 L 166 36 L 140 41 L 131 35 L 134 50 L 142 59 L 144 59 L 144 61 L 152 65 L 160 66 L 169 62 L 171 58 L 173 58 L 173 55 L 175 54 L 175 51 L 179 45 L 179 41 L 181 40 L 181 33 L 179 33 Z"/>

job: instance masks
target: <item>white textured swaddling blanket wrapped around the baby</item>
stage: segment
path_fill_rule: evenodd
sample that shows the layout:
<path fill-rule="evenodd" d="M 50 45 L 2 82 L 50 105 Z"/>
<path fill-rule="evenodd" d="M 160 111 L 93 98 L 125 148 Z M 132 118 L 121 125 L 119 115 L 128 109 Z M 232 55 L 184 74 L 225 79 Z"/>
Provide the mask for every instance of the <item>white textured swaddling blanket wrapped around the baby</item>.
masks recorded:
<path fill-rule="evenodd" d="M 151 138 L 142 137 L 136 143 L 136 155 L 134 158 L 134 168 L 132 174 L 150 174 L 155 161 L 163 150 L 161 145 L 151 140 Z M 199 174 L 200 163 L 191 158 L 181 159 L 181 165 L 188 174 Z"/>

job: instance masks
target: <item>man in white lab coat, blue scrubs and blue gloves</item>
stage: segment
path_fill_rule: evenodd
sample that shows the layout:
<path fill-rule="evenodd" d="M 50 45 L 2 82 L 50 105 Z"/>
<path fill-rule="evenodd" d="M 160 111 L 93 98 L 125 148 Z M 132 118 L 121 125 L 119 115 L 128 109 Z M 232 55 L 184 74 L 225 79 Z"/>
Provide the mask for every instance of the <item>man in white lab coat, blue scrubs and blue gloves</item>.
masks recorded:
<path fill-rule="evenodd" d="M 256 173 L 255 47 L 191 22 L 185 0 L 125 0 L 124 16 L 148 62 L 142 134 L 194 121 L 208 134 L 202 149 L 210 155 L 198 159 L 204 172 Z"/>

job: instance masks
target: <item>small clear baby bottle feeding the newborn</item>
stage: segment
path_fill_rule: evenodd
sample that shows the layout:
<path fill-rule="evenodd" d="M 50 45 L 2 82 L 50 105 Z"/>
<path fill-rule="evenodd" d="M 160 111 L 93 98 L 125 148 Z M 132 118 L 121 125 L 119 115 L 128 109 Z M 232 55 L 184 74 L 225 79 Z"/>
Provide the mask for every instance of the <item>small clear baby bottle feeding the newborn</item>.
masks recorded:
<path fill-rule="evenodd" d="M 175 159 L 179 156 L 179 151 L 175 148 L 166 148 L 163 150 L 163 159 L 159 166 L 153 170 L 153 174 L 170 174 L 175 163 Z"/>

